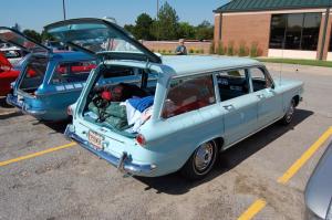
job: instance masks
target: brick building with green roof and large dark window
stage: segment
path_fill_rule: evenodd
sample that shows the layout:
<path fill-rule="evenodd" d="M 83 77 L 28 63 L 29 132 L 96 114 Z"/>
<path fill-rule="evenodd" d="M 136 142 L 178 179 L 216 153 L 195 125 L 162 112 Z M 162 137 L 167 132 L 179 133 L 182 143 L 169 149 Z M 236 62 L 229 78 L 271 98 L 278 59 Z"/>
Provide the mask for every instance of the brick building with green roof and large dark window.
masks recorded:
<path fill-rule="evenodd" d="M 332 0 L 232 0 L 216 9 L 215 46 L 332 61 Z"/>

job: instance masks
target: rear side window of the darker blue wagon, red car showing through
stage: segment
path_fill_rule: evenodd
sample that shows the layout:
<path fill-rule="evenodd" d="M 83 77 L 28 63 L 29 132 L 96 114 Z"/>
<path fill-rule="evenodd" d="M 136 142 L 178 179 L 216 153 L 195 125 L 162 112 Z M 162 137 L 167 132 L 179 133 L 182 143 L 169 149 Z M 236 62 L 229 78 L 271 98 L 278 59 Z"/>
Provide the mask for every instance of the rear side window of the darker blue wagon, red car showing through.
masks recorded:
<path fill-rule="evenodd" d="M 52 84 L 76 83 L 86 81 L 90 72 L 96 67 L 95 61 L 79 61 L 60 63 L 52 76 Z"/>

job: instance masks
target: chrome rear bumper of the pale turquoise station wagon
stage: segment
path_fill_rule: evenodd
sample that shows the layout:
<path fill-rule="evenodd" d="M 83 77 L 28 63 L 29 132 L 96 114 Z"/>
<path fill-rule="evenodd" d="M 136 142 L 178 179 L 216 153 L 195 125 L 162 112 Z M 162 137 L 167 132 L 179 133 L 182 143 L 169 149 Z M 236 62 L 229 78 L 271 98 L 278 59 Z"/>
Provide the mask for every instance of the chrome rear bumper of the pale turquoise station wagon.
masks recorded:
<path fill-rule="evenodd" d="M 73 132 L 72 125 L 68 125 L 64 132 L 64 135 L 71 139 L 77 142 L 82 147 L 92 151 L 93 154 L 97 155 L 98 157 L 105 159 L 111 165 L 115 166 L 120 171 L 128 175 L 136 175 L 136 176 L 153 176 L 154 170 L 156 169 L 155 165 L 138 165 L 131 161 L 129 156 L 127 153 L 123 153 L 122 156 L 118 158 L 110 153 L 105 153 L 103 150 L 96 150 L 92 147 L 87 140 L 84 140 L 79 135 Z"/>

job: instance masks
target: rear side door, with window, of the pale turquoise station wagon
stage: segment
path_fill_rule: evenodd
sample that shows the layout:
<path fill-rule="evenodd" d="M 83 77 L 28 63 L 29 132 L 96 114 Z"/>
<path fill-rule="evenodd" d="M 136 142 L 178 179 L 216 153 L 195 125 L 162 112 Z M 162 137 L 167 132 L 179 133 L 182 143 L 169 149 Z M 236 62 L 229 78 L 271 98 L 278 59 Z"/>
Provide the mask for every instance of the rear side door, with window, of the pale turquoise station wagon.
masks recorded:
<path fill-rule="evenodd" d="M 220 72 L 216 78 L 224 113 L 224 139 L 229 146 L 256 130 L 258 98 L 250 94 L 249 73 L 245 69 Z"/>

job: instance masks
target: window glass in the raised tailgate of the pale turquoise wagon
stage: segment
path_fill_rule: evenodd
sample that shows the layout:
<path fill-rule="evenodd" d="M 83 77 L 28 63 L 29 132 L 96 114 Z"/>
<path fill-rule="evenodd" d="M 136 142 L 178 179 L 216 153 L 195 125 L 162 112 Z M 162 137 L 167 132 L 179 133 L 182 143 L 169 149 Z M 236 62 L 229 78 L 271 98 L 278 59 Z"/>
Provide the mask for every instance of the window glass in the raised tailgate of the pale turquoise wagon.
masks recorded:
<path fill-rule="evenodd" d="M 69 24 L 51 29 L 49 32 L 59 41 L 77 45 L 93 53 L 110 51 L 139 53 L 136 46 L 123 40 L 105 24 Z"/>

